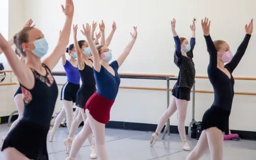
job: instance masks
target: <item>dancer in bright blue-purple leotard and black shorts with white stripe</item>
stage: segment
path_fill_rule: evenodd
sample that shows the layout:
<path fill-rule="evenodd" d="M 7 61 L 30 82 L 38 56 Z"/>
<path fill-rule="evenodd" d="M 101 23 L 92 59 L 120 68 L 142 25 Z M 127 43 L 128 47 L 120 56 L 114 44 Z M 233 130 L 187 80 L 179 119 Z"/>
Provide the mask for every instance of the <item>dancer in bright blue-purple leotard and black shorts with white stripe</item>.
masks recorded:
<path fill-rule="evenodd" d="M 66 116 L 66 124 L 67 130 L 70 131 L 70 127 L 73 120 L 73 105 L 76 102 L 76 93 L 80 88 L 80 75 L 78 72 L 77 64 L 75 59 L 77 58 L 77 54 L 75 53 L 74 44 L 71 44 L 66 53 L 69 54 L 68 60 L 66 59 L 65 54 L 62 56 L 62 63 L 66 72 L 67 81 L 62 87 L 61 91 L 61 100 L 63 101 L 63 107 L 61 112 L 58 114 L 54 121 L 54 126 L 52 130 L 49 132 L 50 138 L 49 141 L 53 141 L 53 137 L 57 129 L 59 128 L 62 120 Z"/>

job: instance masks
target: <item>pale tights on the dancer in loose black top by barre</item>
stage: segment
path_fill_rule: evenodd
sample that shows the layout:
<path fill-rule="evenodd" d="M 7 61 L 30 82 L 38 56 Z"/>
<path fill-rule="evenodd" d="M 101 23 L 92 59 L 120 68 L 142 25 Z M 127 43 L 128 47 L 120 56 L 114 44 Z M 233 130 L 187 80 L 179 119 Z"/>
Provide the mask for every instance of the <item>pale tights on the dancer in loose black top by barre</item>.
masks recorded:
<path fill-rule="evenodd" d="M 172 114 L 178 109 L 178 130 L 181 136 L 182 142 L 187 142 L 186 138 L 186 130 L 185 130 L 185 120 L 187 115 L 187 108 L 188 108 L 188 101 L 187 100 L 180 100 L 176 97 L 172 96 L 171 104 L 162 114 L 160 121 L 158 123 L 158 127 L 156 133 L 160 134 L 163 126 L 167 122 L 167 120 L 172 116 Z"/>

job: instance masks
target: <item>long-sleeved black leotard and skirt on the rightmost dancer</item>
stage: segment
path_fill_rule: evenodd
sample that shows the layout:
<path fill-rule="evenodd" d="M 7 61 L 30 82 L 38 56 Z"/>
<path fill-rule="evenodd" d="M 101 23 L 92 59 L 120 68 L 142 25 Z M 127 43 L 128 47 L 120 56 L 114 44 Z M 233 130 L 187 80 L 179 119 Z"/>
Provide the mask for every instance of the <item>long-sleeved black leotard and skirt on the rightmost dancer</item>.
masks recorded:
<path fill-rule="evenodd" d="M 204 37 L 207 50 L 210 54 L 208 76 L 214 89 L 214 102 L 212 107 L 203 115 L 202 130 L 217 127 L 225 134 L 228 134 L 228 118 L 234 97 L 234 79 L 232 73 L 244 55 L 251 35 L 245 35 L 243 42 L 238 47 L 232 60 L 224 66 L 229 71 L 230 78 L 217 67 L 217 49 L 210 35 Z"/>

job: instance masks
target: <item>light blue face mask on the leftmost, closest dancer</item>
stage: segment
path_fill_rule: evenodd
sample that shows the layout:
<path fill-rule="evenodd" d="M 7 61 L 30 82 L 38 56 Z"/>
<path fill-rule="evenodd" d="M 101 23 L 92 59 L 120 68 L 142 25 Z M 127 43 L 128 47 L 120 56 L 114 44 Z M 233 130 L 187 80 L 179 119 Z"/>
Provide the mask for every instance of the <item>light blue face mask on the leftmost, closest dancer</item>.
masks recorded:
<path fill-rule="evenodd" d="M 45 38 L 37 39 L 33 42 L 34 44 L 34 50 L 32 50 L 32 53 L 34 53 L 38 57 L 44 56 L 48 51 L 48 43 L 46 42 Z"/>

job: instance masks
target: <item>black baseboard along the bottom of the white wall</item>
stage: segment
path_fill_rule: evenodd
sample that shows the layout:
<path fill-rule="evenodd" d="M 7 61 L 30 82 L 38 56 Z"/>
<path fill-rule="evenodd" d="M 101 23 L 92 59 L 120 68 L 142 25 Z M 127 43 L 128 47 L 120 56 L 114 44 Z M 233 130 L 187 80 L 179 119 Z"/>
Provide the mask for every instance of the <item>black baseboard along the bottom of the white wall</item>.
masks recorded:
<path fill-rule="evenodd" d="M 106 125 L 106 128 L 154 132 L 157 128 L 157 125 L 146 123 L 109 121 L 109 123 Z M 178 127 L 170 126 L 170 133 L 179 133 Z M 256 132 L 231 130 L 231 133 L 237 133 L 243 139 L 256 140 Z M 186 127 L 186 134 L 188 134 L 188 127 Z"/>

